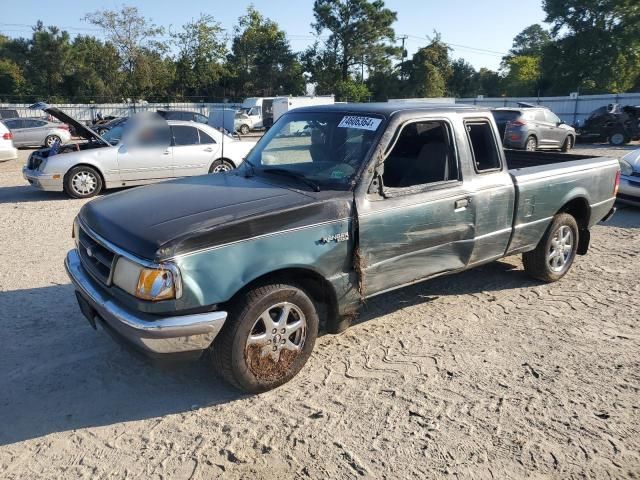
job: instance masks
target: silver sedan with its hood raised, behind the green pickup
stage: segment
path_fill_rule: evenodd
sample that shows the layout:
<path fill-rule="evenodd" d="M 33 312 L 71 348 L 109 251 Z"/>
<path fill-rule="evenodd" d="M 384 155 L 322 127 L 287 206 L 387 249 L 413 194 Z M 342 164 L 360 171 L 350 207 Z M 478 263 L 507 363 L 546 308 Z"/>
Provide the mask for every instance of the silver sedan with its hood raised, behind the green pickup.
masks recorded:
<path fill-rule="evenodd" d="M 55 107 L 41 107 L 73 125 L 87 142 L 33 152 L 23 176 L 36 188 L 65 191 L 74 198 L 92 197 L 103 189 L 227 172 L 238 167 L 255 145 L 201 123 L 161 120 L 171 135 L 168 146 L 134 149 L 122 139 L 131 121 L 98 135 Z"/>

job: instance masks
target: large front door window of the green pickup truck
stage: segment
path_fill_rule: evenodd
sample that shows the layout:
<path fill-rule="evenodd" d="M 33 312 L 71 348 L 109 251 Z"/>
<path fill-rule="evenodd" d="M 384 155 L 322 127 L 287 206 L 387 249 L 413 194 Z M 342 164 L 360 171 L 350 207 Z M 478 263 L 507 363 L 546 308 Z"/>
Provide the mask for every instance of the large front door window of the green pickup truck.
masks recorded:
<path fill-rule="evenodd" d="M 410 188 L 458 180 L 458 159 L 452 135 L 443 121 L 410 123 L 384 161 L 386 187 Z"/>

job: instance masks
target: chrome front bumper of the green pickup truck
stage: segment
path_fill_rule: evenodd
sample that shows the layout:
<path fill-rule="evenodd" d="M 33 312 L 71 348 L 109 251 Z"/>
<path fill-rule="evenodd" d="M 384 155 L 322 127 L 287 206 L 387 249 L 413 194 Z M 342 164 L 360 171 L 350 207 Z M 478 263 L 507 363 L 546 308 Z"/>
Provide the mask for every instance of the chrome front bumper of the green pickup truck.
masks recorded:
<path fill-rule="evenodd" d="M 225 320 L 227 312 L 207 312 L 176 317 L 159 317 L 132 311 L 107 295 L 86 273 L 80 264 L 78 252 L 74 249 L 65 260 L 67 274 L 85 300 L 90 311 L 81 310 L 93 324 L 97 319 L 111 327 L 115 333 L 124 337 L 144 352 L 168 354 L 197 352 L 211 345 Z M 93 318 L 92 317 L 93 314 Z"/>

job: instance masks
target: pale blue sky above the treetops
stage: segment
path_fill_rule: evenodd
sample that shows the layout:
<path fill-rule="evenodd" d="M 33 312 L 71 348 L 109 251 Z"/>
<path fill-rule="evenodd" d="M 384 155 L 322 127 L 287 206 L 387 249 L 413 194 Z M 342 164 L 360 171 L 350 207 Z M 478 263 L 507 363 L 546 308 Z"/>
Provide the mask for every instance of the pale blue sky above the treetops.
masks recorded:
<path fill-rule="evenodd" d="M 96 27 L 82 20 L 89 12 L 137 6 L 154 23 L 169 31 L 199 17 L 213 15 L 229 33 L 237 19 L 253 3 L 263 15 L 278 22 L 292 48 L 303 50 L 313 43 L 313 0 L 57 0 L 55 7 L 42 0 L 8 1 L 2 7 L 0 33 L 10 37 L 30 36 L 37 20 L 63 27 L 70 34 L 103 37 Z M 476 69 L 496 70 L 511 48 L 513 37 L 525 27 L 544 20 L 541 0 L 386 0 L 397 12 L 396 36 L 406 35 L 409 55 L 426 45 L 434 31 L 452 48 L 452 58 L 462 57 Z M 46 12 L 46 13 L 45 13 Z M 398 42 L 400 45 L 400 42 Z"/>

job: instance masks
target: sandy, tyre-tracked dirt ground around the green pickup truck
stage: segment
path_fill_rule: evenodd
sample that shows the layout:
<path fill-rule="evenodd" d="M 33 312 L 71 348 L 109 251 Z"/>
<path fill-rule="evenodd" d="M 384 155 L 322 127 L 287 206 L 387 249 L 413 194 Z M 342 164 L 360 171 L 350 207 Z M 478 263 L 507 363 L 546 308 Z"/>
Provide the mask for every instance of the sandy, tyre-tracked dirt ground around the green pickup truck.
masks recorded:
<path fill-rule="evenodd" d="M 559 283 L 513 257 L 377 297 L 244 396 L 89 327 L 83 201 L 27 186 L 27 154 L 0 164 L 0 478 L 640 478 L 640 209 Z"/>

